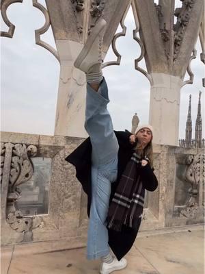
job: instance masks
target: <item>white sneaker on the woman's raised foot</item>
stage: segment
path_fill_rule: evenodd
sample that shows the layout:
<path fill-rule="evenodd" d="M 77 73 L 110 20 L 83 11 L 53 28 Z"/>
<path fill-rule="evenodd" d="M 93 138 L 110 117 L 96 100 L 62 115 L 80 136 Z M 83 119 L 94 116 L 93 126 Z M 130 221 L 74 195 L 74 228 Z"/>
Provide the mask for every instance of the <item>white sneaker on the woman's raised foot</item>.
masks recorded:
<path fill-rule="evenodd" d="M 106 21 L 100 18 L 92 29 L 92 33 L 88 36 L 77 60 L 74 61 L 74 66 L 77 69 L 90 73 L 92 66 L 102 63 L 102 41 L 106 25 Z"/>

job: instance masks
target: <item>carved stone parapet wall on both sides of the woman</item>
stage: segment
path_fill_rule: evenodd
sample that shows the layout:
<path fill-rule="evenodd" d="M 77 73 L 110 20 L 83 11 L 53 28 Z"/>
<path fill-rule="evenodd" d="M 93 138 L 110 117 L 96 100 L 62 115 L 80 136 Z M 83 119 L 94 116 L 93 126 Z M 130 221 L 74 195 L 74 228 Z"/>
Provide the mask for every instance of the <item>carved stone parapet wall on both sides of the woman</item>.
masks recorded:
<path fill-rule="evenodd" d="M 1 245 L 86 245 L 86 195 L 64 160 L 83 140 L 1 132 Z M 204 150 L 154 145 L 154 169 L 141 231 L 202 223 Z"/>

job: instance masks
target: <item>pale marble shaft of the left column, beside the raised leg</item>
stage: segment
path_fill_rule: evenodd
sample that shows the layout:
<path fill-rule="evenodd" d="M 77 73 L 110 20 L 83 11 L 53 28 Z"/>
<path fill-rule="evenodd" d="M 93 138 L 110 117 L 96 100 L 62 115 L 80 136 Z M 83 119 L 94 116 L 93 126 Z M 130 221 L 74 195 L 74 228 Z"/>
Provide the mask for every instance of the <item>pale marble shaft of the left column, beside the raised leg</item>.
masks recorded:
<path fill-rule="evenodd" d="M 55 116 L 55 135 L 87 137 L 85 121 L 85 73 L 73 66 L 83 45 L 71 40 L 56 40 L 60 58 L 59 90 Z"/>

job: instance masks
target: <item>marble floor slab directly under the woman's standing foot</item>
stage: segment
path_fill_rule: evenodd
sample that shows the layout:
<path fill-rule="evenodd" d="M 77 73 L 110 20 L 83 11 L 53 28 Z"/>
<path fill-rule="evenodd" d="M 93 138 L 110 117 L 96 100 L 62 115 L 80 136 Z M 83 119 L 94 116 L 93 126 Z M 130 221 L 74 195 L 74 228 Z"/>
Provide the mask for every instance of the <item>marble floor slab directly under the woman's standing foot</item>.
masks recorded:
<path fill-rule="evenodd" d="M 72 249 L 29 256 L 13 256 L 8 274 L 98 274 L 100 260 L 87 261 L 86 249 Z M 159 274 L 135 247 L 128 266 L 118 274 Z"/>

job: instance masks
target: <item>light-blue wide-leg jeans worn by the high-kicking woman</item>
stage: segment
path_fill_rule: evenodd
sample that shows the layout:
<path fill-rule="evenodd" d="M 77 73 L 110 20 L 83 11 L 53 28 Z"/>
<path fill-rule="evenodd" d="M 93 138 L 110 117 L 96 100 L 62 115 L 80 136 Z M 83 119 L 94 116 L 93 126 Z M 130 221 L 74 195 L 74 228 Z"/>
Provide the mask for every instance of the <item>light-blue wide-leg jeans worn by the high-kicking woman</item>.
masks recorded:
<path fill-rule="evenodd" d="M 107 84 L 103 79 L 98 92 L 87 84 L 85 129 L 92 142 L 92 203 L 87 232 L 87 259 L 109 253 L 108 231 L 104 224 L 109 210 L 111 183 L 118 175 L 118 140 L 113 132 Z"/>

